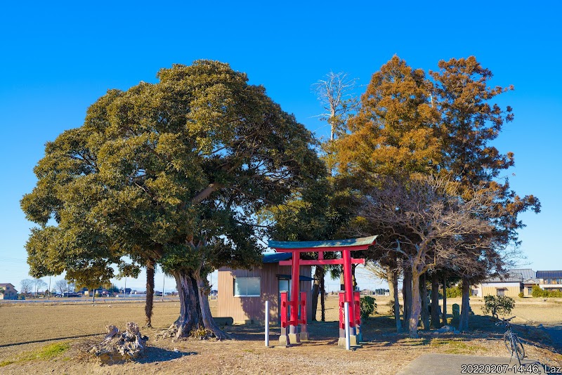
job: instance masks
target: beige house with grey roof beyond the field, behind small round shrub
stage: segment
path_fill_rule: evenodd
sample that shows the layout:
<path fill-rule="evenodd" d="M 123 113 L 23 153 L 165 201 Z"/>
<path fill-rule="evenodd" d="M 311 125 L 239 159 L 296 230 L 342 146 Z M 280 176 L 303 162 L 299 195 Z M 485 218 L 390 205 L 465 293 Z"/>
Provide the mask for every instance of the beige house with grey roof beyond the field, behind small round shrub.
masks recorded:
<path fill-rule="evenodd" d="M 508 270 L 505 275 L 492 277 L 482 282 L 477 288 L 478 297 L 517 297 L 521 292 L 523 292 L 523 296 L 529 296 L 532 291 L 532 285 L 535 284 L 538 284 L 535 279 L 535 271 L 530 268 Z"/>

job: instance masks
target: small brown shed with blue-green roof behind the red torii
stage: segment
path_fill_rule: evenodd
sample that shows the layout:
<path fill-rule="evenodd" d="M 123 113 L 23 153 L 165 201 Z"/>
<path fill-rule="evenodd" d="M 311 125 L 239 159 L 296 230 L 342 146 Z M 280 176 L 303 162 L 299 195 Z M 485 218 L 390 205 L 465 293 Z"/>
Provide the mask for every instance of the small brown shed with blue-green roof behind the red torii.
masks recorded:
<path fill-rule="evenodd" d="M 291 266 L 279 265 L 291 259 L 291 253 L 263 254 L 262 264 L 250 270 L 218 269 L 218 317 L 232 317 L 235 324 L 263 322 L 266 301 L 269 301 L 270 320 L 278 321 L 280 291 L 292 298 Z M 301 265 L 299 290 L 306 291 L 306 319 L 312 320 L 312 266 Z"/>

